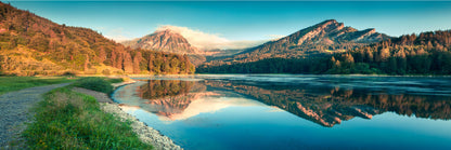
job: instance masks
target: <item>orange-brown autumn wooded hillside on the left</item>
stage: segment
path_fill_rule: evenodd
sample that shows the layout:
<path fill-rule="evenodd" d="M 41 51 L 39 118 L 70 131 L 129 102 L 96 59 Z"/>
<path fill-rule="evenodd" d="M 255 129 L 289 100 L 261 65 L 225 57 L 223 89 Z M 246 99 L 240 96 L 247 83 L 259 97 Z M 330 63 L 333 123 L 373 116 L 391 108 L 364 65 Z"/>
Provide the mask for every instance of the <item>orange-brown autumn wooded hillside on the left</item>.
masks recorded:
<path fill-rule="evenodd" d="M 81 27 L 55 24 L 0 2 L 0 73 L 190 73 L 186 56 L 132 50 Z"/>

